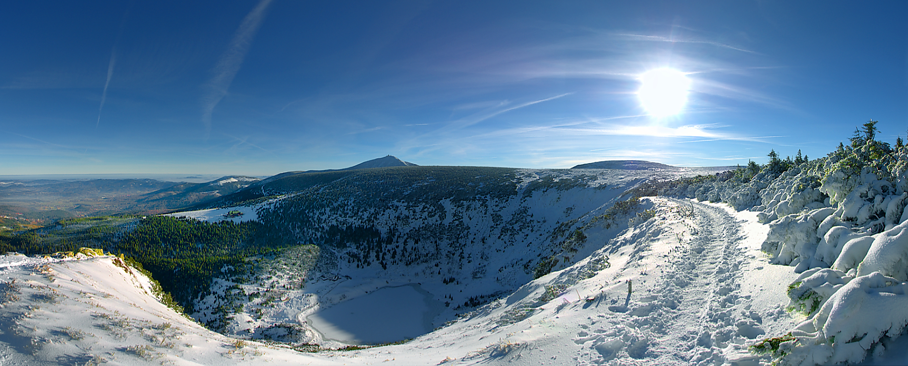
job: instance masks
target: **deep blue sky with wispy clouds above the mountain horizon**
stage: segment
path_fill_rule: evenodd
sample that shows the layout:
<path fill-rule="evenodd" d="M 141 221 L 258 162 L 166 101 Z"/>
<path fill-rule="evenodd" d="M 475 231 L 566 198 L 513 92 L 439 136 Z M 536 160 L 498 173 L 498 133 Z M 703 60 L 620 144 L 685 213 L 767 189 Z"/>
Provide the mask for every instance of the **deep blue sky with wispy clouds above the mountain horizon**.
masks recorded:
<path fill-rule="evenodd" d="M 818 158 L 908 130 L 903 1 L 35 1 L 0 11 L 0 175 L 265 176 L 394 155 Z M 643 72 L 690 81 L 676 115 Z"/>

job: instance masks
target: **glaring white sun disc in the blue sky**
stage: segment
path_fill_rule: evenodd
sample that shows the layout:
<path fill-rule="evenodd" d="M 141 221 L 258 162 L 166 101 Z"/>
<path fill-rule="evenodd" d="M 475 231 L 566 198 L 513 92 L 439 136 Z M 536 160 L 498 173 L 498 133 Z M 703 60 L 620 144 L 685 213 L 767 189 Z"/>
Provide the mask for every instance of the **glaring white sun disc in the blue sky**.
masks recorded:
<path fill-rule="evenodd" d="M 675 69 L 655 69 L 640 74 L 640 103 L 649 114 L 667 117 L 684 109 L 690 79 L 684 72 Z"/>

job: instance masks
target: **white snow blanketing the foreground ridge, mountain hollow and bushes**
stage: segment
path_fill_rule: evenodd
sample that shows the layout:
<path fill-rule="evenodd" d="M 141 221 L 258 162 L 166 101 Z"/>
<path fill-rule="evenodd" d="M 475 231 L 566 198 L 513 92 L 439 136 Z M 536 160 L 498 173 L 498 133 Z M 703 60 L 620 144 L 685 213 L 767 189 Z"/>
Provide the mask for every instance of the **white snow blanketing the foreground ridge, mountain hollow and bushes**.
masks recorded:
<path fill-rule="evenodd" d="M 394 202 L 373 216 L 377 222 L 404 229 L 462 223 L 465 241 L 503 233 L 490 232 L 500 229 L 480 212 L 508 220 L 524 209 L 533 221 L 511 227 L 517 234 L 508 246 L 518 249 L 469 253 L 475 261 L 445 273 L 430 264 L 351 268 L 329 249 L 293 248 L 271 262 L 269 276 L 212 283 L 193 314 L 202 322 L 226 305 L 219 294 L 262 296 L 227 320 L 227 335 L 159 303 L 151 282 L 116 257 L 0 256 L 0 363 L 904 364 L 908 179 L 815 164 L 831 172 L 818 179 L 811 176 L 818 167 L 802 165 L 768 183 L 680 188 L 732 207 L 646 197 L 646 215 L 614 222 L 597 216 L 648 176 L 603 174 L 598 184 L 606 189 L 537 190 L 518 203 L 443 200 L 440 212 Z M 523 174 L 526 185 L 546 173 Z M 257 220 L 268 207 L 274 203 L 170 215 Z M 233 210 L 243 215 L 225 217 Z M 562 223 L 582 229 L 586 241 L 560 254 L 572 258 L 551 273 L 520 280 L 513 268 L 534 254 L 528 237 Z M 459 281 L 442 283 L 445 276 Z M 479 295 L 493 300 L 455 310 Z M 795 341 L 780 343 L 785 357 L 749 348 L 786 333 Z M 410 338 L 353 351 L 293 348 Z"/>

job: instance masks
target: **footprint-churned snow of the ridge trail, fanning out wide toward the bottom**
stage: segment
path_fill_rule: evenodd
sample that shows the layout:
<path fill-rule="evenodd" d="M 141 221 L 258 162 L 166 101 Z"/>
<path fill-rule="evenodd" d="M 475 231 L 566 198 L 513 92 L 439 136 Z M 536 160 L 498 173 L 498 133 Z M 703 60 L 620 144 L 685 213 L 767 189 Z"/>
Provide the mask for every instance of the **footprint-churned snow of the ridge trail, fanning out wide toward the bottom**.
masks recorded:
<path fill-rule="evenodd" d="M 594 321 L 581 328 L 575 342 L 588 345 L 588 362 L 581 364 L 712 365 L 750 361 L 747 352 L 765 332 L 762 319 L 750 311 L 749 295 L 740 294 L 741 265 L 745 263 L 744 235 L 735 217 L 721 207 L 670 199 L 679 207 L 693 207 L 685 220 L 689 236 L 672 249 L 652 285 L 637 284 L 622 298 L 624 305 L 609 306 L 611 326 Z M 693 222 L 693 226 L 690 226 Z M 663 231 L 664 233 L 666 231 Z M 665 234 L 663 234 L 665 235 Z M 638 249 L 639 250 L 639 249 Z M 636 261 L 630 261 L 634 266 Z M 625 272 L 630 268 L 625 268 Z M 655 271 L 654 271 L 655 272 Z M 646 282 L 646 280 L 644 280 Z M 599 315 L 603 317 L 603 315 Z M 731 357 L 729 357 L 731 356 Z M 747 362 L 749 363 L 749 362 Z"/>

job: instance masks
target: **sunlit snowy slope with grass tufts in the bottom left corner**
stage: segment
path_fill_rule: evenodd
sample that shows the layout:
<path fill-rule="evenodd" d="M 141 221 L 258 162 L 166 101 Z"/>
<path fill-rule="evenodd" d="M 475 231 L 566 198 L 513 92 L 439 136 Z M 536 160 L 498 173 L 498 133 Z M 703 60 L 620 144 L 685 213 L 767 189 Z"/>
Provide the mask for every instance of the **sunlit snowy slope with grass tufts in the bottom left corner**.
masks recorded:
<path fill-rule="evenodd" d="M 239 342 L 173 312 L 115 256 L 0 256 L 0 363 L 9 365 L 341 364 Z"/>

